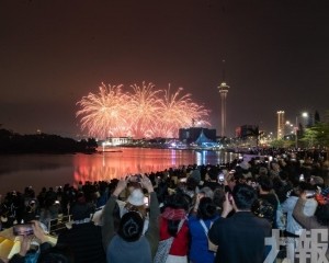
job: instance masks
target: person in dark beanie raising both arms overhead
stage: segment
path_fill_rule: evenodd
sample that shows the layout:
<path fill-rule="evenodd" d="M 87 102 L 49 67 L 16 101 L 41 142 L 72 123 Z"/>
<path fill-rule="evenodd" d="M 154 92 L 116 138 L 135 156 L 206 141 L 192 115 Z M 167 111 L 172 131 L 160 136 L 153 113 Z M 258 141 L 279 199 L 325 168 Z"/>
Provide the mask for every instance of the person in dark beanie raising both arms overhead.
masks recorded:
<path fill-rule="evenodd" d="M 144 217 L 137 210 L 127 211 L 114 226 L 113 211 L 116 199 L 127 187 L 128 180 L 120 180 L 103 210 L 102 241 L 107 262 L 151 263 L 159 242 L 159 203 L 151 181 L 143 175 L 140 186 L 147 190 L 149 202 L 149 226 L 143 235 Z"/>

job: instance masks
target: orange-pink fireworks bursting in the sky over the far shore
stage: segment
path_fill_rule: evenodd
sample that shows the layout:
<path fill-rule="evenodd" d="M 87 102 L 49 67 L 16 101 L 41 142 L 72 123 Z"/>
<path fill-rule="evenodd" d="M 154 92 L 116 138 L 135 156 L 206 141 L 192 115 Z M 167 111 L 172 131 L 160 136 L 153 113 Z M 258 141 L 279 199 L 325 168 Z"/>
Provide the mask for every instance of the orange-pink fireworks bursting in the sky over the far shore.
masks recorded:
<path fill-rule="evenodd" d="M 191 100 L 191 94 L 180 95 L 182 88 L 170 93 L 155 90 L 152 83 L 131 85 L 133 93 L 123 92 L 123 85 L 100 87 L 98 94 L 89 93 L 77 104 L 81 110 L 81 128 L 90 136 L 155 138 L 178 137 L 179 128 L 191 126 L 193 119 L 207 126 L 209 111 Z"/>

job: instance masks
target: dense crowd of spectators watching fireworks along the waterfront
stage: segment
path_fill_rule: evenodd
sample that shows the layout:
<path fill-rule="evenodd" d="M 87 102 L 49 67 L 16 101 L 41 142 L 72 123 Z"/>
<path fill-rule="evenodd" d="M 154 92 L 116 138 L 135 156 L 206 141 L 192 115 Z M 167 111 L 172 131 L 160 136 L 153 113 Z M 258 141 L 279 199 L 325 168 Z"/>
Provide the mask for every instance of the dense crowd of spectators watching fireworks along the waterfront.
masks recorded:
<path fill-rule="evenodd" d="M 273 229 L 286 240 L 274 259 L 294 262 L 305 230 L 322 229 L 327 247 L 318 256 L 328 260 L 328 161 L 277 155 L 44 187 L 38 194 L 30 186 L 2 199 L 1 228 L 32 221 L 41 241 L 35 262 L 58 256 L 79 263 L 257 263 L 271 254 L 265 239 Z M 71 227 L 49 245 L 39 226 L 60 215 L 72 215 Z M 27 239 L 9 262 L 24 262 Z"/>

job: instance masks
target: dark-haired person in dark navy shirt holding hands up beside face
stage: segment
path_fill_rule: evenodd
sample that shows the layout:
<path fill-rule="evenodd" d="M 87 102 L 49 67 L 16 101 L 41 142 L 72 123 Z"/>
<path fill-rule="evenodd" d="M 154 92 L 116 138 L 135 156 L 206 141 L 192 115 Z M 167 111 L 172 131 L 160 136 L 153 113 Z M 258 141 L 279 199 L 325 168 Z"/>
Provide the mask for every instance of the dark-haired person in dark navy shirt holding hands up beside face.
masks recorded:
<path fill-rule="evenodd" d="M 209 241 L 218 245 L 215 262 L 263 263 L 266 254 L 265 238 L 271 237 L 271 225 L 254 216 L 251 206 L 257 192 L 247 184 L 237 184 L 226 193 L 222 217 L 208 231 Z M 250 245 L 252 244 L 252 245 Z"/>

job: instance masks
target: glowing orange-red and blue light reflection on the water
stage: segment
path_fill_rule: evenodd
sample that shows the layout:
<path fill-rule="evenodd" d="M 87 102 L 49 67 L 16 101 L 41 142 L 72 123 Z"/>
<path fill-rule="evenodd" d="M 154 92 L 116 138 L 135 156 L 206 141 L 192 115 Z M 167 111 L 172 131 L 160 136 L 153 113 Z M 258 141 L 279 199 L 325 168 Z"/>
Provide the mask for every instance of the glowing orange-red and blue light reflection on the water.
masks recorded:
<path fill-rule="evenodd" d="M 189 151 L 171 149 L 122 148 L 122 152 L 78 156 L 75 159 L 75 183 L 123 178 L 135 173 L 162 171 L 186 164 L 230 162 L 235 153 L 220 151 Z"/>

